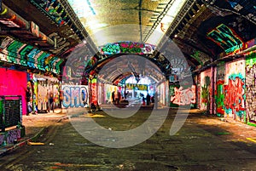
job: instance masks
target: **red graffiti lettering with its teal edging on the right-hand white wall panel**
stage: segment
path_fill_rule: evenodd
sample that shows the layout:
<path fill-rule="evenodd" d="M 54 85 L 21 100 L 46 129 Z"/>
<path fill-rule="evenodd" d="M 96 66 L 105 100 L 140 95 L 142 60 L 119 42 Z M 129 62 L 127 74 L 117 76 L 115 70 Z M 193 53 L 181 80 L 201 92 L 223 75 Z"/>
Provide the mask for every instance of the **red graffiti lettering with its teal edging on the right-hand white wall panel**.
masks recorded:
<path fill-rule="evenodd" d="M 244 79 L 241 79 L 241 76 L 232 75 L 229 78 L 228 85 L 224 85 L 224 105 L 226 112 L 230 113 L 231 110 L 234 117 L 236 115 L 240 118 L 243 117 L 243 111 L 245 111 L 245 82 Z"/>

